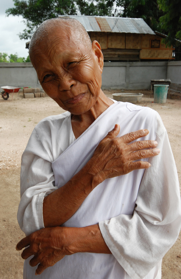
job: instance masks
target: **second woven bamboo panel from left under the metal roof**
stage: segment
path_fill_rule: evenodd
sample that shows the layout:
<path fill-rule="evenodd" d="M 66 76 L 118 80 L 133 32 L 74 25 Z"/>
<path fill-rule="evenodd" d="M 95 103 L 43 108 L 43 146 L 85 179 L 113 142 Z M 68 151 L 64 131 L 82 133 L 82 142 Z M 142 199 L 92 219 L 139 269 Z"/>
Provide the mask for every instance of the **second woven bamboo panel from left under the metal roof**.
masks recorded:
<path fill-rule="evenodd" d="M 108 48 L 125 48 L 125 33 L 109 33 L 107 38 Z"/>

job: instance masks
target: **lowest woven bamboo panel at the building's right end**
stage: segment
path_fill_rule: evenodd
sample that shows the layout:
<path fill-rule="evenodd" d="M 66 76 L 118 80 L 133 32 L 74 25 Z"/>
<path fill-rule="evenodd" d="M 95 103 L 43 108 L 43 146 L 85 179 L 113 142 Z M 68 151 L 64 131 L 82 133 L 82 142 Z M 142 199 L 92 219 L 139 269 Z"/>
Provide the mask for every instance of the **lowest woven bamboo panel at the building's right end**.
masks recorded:
<path fill-rule="evenodd" d="M 142 49 L 140 59 L 172 59 L 172 50 L 164 49 Z"/>

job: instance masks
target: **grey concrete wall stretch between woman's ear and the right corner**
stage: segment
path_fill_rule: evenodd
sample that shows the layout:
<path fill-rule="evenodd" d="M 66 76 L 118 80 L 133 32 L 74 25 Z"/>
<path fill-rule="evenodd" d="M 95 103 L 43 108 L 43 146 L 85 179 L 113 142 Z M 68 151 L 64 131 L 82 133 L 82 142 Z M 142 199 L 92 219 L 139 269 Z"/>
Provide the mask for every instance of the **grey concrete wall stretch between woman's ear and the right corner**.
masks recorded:
<path fill-rule="evenodd" d="M 167 78 L 167 64 L 168 62 L 105 62 L 102 88 L 149 89 L 151 79 Z"/>

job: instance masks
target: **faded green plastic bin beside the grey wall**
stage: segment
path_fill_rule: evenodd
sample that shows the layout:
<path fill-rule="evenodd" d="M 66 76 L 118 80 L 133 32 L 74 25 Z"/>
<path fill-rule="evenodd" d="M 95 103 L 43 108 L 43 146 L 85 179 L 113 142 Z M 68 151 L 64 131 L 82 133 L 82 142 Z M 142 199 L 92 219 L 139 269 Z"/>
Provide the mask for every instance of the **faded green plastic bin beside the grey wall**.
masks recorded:
<path fill-rule="evenodd" d="M 154 84 L 154 103 L 166 103 L 168 86 L 165 84 Z"/>

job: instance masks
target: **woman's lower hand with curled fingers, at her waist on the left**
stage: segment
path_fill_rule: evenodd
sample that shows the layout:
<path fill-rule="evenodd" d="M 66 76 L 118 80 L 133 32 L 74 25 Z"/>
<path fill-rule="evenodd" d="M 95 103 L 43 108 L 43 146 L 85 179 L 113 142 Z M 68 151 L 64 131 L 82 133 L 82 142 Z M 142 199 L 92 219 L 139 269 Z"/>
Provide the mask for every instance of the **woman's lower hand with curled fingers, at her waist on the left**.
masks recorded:
<path fill-rule="evenodd" d="M 16 245 L 16 250 L 23 250 L 21 257 L 27 259 L 34 257 L 29 261 L 30 266 L 38 267 L 35 275 L 41 274 L 47 267 L 53 266 L 60 261 L 65 255 L 71 255 L 68 251 L 68 237 L 66 227 L 44 228 L 35 231 L 29 236 L 22 238 Z"/>

